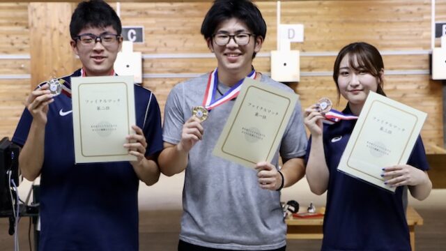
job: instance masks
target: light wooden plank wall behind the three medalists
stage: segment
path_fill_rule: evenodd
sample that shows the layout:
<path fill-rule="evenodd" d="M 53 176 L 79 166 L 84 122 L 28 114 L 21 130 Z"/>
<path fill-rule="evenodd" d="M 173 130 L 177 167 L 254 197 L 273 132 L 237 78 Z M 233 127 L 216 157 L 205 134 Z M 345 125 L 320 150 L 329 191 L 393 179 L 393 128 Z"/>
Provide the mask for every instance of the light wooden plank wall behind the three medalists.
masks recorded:
<path fill-rule="evenodd" d="M 446 20 L 446 0 L 436 1 L 436 20 Z M 256 1 L 268 24 L 262 52 L 276 49 L 276 2 Z M 111 3 L 116 8 L 116 3 Z M 123 25 L 142 25 L 145 43 L 135 44 L 142 54 L 208 53 L 199 33 L 210 1 L 151 2 L 120 4 Z M 2 59 L 5 55 L 32 55 L 29 41 L 29 3 L 0 3 L 0 136 L 11 137 L 24 108 L 22 103 L 31 87 L 30 59 Z M 70 15 L 66 15 L 69 19 Z M 376 45 L 381 52 L 431 49 L 431 1 L 282 1 L 282 24 L 304 24 L 305 42 L 293 43 L 293 50 L 303 52 L 338 52 L 342 46 L 363 40 Z M 61 28 L 62 29 L 62 28 Z M 68 26 L 63 28 L 68 29 Z M 61 41 L 62 42 L 62 41 Z M 63 43 L 68 43 L 63 41 Z M 45 45 L 42 45 L 45 46 Z M 71 52 L 67 52 L 71 53 Z M 300 94 L 303 107 L 319 97 L 336 100 L 336 87 L 330 76 L 335 56 L 302 56 L 300 83 L 291 84 Z M 385 90 L 390 98 L 399 100 L 429 114 L 422 130 L 427 153 L 443 153 L 442 84 L 432 81 L 429 55 L 402 54 L 384 56 L 385 69 L 400 71 L 386 75 Z M 78 64 L 77 64 L 78 65 Z M 213 59 L 144 59 L 144 74 L 206 73 L 215 67 Z M 256 69 L 270 72 L 270 59 L 259 56 Z M 74 70 L 74 69 L 73 69 Z M 422 70 L 409 75 L 408 71 Z M 71 72 L 71 70 L 70 70 Z M 68 72 L 69 73 L 69 72 Z M 6 75 L 13 75 L 6 77 Z M 3 78 L 2 78 L 3 76 Z M 19 77 L 19 79 L 14 79 Z M 155 92 L 163 109 L 172 86 L 183 77 L 146 77 L 144 86 Z M 339 109 L 344 107 L 341 100 Z"/>

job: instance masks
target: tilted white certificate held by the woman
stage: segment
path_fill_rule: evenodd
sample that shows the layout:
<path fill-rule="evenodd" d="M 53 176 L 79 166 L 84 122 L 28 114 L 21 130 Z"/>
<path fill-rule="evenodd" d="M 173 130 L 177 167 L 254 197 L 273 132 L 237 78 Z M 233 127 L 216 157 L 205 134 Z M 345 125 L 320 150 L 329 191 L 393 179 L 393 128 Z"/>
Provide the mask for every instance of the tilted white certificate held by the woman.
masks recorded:
<path fill-rule="evenodd" d="M 337 169 L 394 192 L 384 184 L 382 169 L 407 163 L 426 116 L 370 92 Z"/>

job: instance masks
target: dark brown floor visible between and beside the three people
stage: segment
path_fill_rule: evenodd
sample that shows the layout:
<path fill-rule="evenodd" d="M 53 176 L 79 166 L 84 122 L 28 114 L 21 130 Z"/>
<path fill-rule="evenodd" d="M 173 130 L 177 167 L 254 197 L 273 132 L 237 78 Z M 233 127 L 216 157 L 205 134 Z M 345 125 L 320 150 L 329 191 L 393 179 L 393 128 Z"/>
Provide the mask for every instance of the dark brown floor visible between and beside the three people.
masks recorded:
<path fill-rule="evenodd" d="M 446 250 L 446 210 L 417 209 L 424 225 L 415 228 L 416 250 Z M 140 213 L 140 250 L 176 250 L 180 230 L 180 211 L 142 211 Z M 29 218 L 22 218 L 19 225 L 20 250 L 29 248 Z M 31 236 L 32 238 L 32 236 Z M 319 240 L 288 241 L 287 250 L 319 250 Z M 0 251 L 14 250 L 14 238 L 8 235 L 8 219 L 0 218 Z"/>

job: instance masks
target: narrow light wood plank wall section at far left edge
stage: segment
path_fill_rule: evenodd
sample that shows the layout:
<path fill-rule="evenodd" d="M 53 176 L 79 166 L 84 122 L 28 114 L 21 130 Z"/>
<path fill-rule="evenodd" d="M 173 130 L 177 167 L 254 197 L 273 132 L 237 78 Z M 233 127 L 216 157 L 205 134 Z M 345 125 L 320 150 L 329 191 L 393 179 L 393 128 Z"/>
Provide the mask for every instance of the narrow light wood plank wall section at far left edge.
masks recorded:
<path fill-rule="evenodd" d="M 4 59 L 17 55 L 25 59 Z M 12 137 L 22 114 L 24 99 L 29 93 L 29 78 L 15 77 L 31 74 L 29 61 L 28 3 L 0 3 L 1 138 Z"/>

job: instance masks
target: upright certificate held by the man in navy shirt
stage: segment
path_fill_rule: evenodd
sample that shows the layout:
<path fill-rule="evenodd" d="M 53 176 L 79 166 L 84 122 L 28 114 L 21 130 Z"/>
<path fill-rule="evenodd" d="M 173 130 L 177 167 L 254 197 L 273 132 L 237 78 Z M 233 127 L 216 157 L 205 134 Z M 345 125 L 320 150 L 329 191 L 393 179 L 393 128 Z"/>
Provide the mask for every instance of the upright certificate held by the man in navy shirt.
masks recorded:
<path fill-rule="evenodd" d="M 72 77 L 75 161 L 136 160 L 123 147 L 135 124 L 133 77 Z"/>

